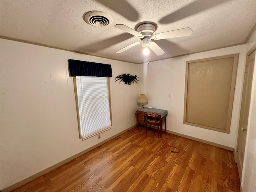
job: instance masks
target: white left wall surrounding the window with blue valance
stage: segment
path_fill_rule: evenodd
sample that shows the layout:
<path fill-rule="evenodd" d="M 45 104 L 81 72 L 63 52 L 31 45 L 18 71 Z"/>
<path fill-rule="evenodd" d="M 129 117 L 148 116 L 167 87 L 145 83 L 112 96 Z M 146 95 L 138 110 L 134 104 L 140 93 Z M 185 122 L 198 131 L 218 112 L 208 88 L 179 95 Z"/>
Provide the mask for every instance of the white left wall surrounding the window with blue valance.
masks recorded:
<path fill-rule="evenodd" d="M 1 43 L 0 189 L 24 180 L 136 124 L 138 84 L 115 77 L 138 65 L 10 40 Z M 111 64 L 112 129 L 79 139 L 68 59 Z"/>

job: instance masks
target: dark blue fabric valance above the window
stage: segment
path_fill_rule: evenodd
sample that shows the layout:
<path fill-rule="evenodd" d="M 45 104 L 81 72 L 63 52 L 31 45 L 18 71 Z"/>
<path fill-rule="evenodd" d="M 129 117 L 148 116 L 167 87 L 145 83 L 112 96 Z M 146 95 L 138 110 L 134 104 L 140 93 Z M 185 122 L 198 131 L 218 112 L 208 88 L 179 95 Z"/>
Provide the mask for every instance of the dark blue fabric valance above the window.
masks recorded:
<path fill-rule="evenodd" d="M 112 77 L 111 65 L 88 61 L 68 60 L 70 76 Z"/>

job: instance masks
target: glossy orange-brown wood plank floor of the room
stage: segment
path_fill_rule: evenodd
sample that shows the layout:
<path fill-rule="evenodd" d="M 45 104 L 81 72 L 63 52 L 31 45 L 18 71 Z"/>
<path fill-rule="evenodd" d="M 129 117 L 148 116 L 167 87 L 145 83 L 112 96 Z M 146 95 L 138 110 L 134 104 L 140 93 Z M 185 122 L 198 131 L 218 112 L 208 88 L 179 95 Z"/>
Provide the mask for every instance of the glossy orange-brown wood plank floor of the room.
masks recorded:
<path fill-rule="evenodd" d="M 239 192 L 233 152 L 155 130 L 126 132 L 15 192 Z"/>

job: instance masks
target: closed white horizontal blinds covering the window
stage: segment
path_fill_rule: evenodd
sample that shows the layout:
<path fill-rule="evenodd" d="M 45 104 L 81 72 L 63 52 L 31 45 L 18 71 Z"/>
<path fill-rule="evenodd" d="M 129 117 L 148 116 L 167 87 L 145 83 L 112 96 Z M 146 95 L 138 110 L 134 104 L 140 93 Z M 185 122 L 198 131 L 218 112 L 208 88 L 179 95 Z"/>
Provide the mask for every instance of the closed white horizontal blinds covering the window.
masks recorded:
<path fill-rule="evenodd" d="M 87 139 L 111 128 L 107 77 L 76 76 L 80 137 Z"/>

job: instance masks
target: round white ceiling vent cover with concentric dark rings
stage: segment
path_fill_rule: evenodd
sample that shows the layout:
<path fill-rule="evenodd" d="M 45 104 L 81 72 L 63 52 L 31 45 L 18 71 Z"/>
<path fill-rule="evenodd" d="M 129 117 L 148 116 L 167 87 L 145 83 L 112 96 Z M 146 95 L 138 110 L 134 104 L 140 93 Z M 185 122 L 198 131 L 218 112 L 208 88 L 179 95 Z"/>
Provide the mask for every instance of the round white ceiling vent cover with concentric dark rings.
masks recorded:
<path fill-rule="evenodd" d="M 84 14 L 84 21 L 94 27 L 106 27 L 113 22 L 112 17 L 102 11 L 90 11 Z"/>

